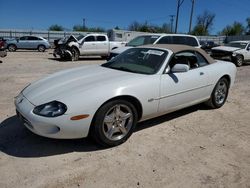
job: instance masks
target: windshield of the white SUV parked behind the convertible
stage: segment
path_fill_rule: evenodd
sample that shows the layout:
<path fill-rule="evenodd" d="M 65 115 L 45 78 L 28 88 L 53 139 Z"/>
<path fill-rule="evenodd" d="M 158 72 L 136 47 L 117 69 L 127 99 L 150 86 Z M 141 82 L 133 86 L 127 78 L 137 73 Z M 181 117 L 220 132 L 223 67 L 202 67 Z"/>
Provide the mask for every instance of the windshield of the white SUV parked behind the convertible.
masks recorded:
<path fill-rule="evenodd" d="M 136 47 L 146 44 L 153 44 L 159 37 L 159 35 L 139 36 L 128 42 L 126 46 Z"/>

